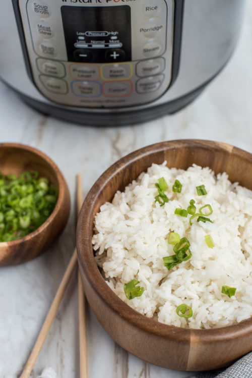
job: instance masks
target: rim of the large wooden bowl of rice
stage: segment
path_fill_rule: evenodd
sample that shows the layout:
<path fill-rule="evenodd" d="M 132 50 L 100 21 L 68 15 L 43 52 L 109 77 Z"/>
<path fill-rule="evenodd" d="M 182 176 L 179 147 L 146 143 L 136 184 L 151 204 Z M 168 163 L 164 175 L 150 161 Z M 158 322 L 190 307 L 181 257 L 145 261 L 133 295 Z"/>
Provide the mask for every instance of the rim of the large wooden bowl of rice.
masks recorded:
<path fill-rule="evenodd" d="M 211 148 L 211 150 L 222 150 L 226 153 L 232 153 L 235 155 L 238 154 L 240 157 L 249 160 L 252 164 L 251 153 L 233 145 L 218 141 L 178 139 L 163 141 L 142 147 L 118 159 L 96 180 L 83 202 L 77 224 L 77 254 L 79 265 L 86 276 L 88 284 L 92 287 L 93 291 L 96 292 L 101 301 L 112 311 L 116 312 L 117 315 L 138 329 L 155 334 L 159 337 L 168 337 L 169 339 L 174 340 L 177 340 L 179 336 L 180 341 L 186 341 L 189 337 L 191 338 L 191 343 L 195 344 L 199 342 L 199 338 L 202 341 L 214 343 L 217 341 L 229 340 L 230 338 L 239 338 L 241 335 L 246 335 L 248 332 L 252 333 L 252 317 L 234 325 L 211 329 L 176 327 L 148 318 L 124 303 L 106 284 L 93 256 L 90 227 L 93 225 L 92 209 L 98 198 L 98 192 L 109 183 L 112 177 L 115 177 L 120 171 L 134 164 L 138 159 L 151 155 L 154 152 L 162 152 L 164 149 L 178 149 L 181 147 L 193 148 L 197 146 L 200 146 L 201 148 Z M 92 225 L 90 224 L 90 221 L 92 221 Z"/>

